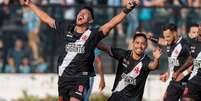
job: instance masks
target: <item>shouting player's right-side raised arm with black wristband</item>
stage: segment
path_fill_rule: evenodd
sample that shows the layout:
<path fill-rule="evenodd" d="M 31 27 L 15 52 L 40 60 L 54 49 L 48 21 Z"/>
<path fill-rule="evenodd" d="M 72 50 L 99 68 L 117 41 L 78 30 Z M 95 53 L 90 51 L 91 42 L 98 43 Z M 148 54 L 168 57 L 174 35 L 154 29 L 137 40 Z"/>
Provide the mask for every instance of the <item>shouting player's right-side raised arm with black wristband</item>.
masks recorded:
<path fill-rule="evenodd" d="M 118 15 L 113 17 L 109 22 L 101 26 L 100 30 L 103 32 L 103 34 L 107 36 L 110 30 L 121 23 L 127 14 L 139 4 L 139 2 L 139 0 L 128 0 L 126 8 L 124 8 Z"/>

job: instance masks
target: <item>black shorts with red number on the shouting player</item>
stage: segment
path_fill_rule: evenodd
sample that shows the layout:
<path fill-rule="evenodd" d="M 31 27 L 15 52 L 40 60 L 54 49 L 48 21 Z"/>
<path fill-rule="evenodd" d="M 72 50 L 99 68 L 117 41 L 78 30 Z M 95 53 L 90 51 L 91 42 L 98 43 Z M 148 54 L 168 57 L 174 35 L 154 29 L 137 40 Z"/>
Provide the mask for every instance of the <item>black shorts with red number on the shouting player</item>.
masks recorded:
<path fill-rule="evenodd" d="M 59 101 L 69 101 L 71 97 L 82 101 L 83 93 L 88 88 L 89 78 L 65 79 L 59 78 Z"/>

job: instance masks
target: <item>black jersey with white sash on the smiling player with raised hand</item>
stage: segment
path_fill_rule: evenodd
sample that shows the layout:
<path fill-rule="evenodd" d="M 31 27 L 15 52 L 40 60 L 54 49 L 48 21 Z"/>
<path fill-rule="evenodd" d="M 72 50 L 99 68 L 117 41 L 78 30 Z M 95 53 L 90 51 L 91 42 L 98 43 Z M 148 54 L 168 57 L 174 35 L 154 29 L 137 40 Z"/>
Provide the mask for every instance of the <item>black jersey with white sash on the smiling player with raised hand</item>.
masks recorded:
<path fill-rule="evenodd" d="M 112 91 L 123 92 L 129 101 L 141 101 L 151 59 L 143 55 L 134 60 L 130 50 L 119 48 L 112 48 L 111 54 L 119 62 Z"/>

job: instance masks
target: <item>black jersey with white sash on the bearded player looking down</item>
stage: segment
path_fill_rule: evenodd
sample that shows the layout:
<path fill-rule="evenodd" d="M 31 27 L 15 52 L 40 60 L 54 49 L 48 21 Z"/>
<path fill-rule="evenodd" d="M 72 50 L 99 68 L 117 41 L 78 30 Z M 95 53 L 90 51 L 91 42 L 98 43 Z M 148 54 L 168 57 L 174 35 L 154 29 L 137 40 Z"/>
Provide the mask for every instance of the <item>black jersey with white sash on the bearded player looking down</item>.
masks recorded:
<path fill-rule="evenodd" d="M 167 54 L 170 77 L 172 78 L 172 73 L 177 71 L 190 55 L 188 42 L 180 37 L 176 44 L 167 46 Z M 184 78 L 182 82 L 187 82 L 187 78 Z"/>

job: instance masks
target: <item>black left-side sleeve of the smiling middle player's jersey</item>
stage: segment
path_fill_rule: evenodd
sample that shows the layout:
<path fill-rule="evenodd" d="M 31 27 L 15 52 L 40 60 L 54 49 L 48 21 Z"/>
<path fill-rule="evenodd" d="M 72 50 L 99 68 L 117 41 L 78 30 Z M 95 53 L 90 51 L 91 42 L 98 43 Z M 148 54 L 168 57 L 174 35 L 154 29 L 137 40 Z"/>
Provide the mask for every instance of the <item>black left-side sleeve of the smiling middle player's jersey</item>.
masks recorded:
<path fill-rule="evenodd" d="M 122 60 L 123 58 L 126 57 L 128 51 L 120 48 L 111 48 L 111 54 L 110 56 L 117 59 L 117 60 Z"/>

